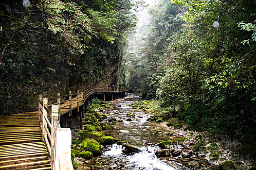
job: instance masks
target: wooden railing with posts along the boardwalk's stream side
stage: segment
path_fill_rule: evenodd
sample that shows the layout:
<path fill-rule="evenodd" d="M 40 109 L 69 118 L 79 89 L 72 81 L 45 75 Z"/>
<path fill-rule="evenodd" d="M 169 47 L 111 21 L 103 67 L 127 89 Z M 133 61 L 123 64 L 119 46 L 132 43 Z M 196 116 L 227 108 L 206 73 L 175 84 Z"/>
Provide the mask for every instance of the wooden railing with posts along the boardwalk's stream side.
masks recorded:
<path fill-rule="evenodd" d="M 52 170 L 73 170 L 71 162 L 71 130 L 70 128 L 61 128 L 59 124 L 60 116 L 69 112 L 72 116 L 72 110 L 77 108 L 79 112 L 80 106 L 84 105 L 86 100 L 93 94 L 120 93 L 128 92 L 127 88 L 97 87 L 89 88 L 84 92 L 77 92 L 60 96 L 52 104 L 48 105 L 48 99 L 39 95 L 38 115 L 39 126 L 42 132 L 43 141 L 46 144 Z M 63 101 L 61 100 L 63 99 Z M 80 116 L 81 117 L 81 116 Z M 81 117 L 82 118 L 82 117 Z M 50 120 L 49 120 L 50 119 Z"/>

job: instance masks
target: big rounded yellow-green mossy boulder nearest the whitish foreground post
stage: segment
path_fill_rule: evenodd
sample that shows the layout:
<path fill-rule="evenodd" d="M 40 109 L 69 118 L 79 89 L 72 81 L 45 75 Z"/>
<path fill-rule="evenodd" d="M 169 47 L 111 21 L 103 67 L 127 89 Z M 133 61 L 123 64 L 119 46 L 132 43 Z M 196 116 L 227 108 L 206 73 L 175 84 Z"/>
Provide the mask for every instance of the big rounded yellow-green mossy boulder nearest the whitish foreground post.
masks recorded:
<path fill-rule="evenodd" d="M 95 139 L 84 139 L 81 147 L 85 151 L 91 151 L 93 155 L 101 155 L 102 154 L 102 149 L 100 147 L 100 144 L 95 140 Z"/>

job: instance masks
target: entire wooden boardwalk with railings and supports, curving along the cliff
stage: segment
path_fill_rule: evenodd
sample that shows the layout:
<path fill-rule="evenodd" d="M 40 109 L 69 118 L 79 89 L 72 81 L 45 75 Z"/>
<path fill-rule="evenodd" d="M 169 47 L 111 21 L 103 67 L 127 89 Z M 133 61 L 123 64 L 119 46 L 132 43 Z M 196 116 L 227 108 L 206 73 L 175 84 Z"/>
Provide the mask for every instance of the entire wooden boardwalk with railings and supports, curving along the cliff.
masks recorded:
<path fill-rule="evenodd" d="M 127 88 L 97 87 L 64 96 L 58 93 L 52 104 L 39 95 L 38 112 L 0 116 L 0 170 L 73 170 L 71 130 L 60 127 L 60 116 L 79 112 L 82 124 L 84 107 L 95 94 L 102 94 L 104 100 L 111 95 L 113 100 L 126 92 Z"/>

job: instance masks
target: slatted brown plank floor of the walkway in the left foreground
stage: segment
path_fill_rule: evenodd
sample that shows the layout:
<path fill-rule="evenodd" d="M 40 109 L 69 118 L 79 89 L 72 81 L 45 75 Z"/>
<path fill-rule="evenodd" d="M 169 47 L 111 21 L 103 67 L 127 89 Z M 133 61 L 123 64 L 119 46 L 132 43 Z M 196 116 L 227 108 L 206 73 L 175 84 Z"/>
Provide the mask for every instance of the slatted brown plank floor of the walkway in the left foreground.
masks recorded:
<path fill-rule="evenodd" d="M 0 117 L 0 170 L 49 170 L 38 112 Z"/>

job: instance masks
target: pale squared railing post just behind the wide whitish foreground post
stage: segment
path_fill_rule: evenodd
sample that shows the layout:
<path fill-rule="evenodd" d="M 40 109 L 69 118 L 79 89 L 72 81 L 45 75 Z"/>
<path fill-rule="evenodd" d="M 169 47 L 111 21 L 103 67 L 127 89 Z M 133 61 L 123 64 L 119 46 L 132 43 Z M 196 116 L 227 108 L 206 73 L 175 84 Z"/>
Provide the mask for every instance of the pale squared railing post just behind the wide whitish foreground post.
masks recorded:
<path fill-rule="evenodd" d="M 55 136 L 56 136 L 56 132 L 55 132 L 55 123 L 54 123 L 54 121 L 55 120 L 58 120 L 58 118 L 59 118 L 59 114 L 58 114 L 58 112 L 59 112 L 59 106 L 58 105 L 53 105 L 52 106 L 52 118 L 51 118 L 51 122 L 52 122 L 52 129 L 51 129 L 51 136 L 52 136 L 52 138 L 51 138 L 51 151 L 52 151 L 52 153 L 51 153 L 51 164 L 52 164 L 52 168 L 54 169 L 54 170 L 58 170 L 58 165 L 56 165 L 57 164 L 57 161 L 56 161 L 56 147 L 55 147 L 55 141 L 54 141 L 54 139 L 55 139 Z"/>

